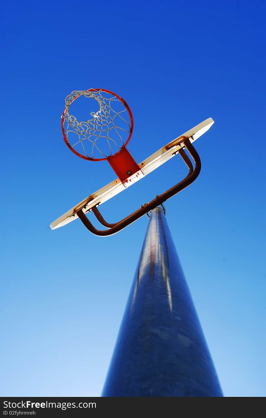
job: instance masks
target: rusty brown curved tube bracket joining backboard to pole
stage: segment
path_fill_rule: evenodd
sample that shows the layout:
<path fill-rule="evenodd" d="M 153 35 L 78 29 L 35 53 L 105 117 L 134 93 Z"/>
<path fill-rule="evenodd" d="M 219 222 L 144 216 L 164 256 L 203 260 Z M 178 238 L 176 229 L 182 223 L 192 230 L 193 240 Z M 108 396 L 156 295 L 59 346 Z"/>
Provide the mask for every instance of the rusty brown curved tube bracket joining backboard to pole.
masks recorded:
<path fill-rule="evenodd" d="M 184 178 L 182 181 L 180 181 L 175 186 L 171 187 L 164 193 L 160 194 L 160 196 L 156 197 L 155 199 L 151 200 L 149 203 L 145 204 L 145 206 L 137 209 L 135 212 L 127 216 L 126 218 L 122 219 L 119 222 L 116 222 L 115 224 L 108 224 L 103 217 L 101 216 L 101 213 L 98 211 L 96 206 L 92 208 L 93 213 L 95 214 L 96 218 L 98 219 L 101 224 L 104 226 L 110 228 L 106 230 L 99 230 L 96 229 L 93 224 L 89 221 L 89 219 L 84 214 L 83 210 L 80 209 L 77 212 L 77 216 L 80 218 L 80 220 L 83 222 L 85 227 L 92 232 L 95 235 L 99 235 L 101 237 L 106 237 L 108 235 L 116 234 L 116 232 L 121 231 L 121 229 L 124 229 L 132 222 L 136 221 L 143 215 L 145 215 L 148 211 L 155 209 L 155 207 L 159 206 L 166 200 L 170 199 L 170 197 L 177 194 L 179 191 L 185 189 L 187 186 L 189 186 L 196 178 L 199 176 L 200 170 L 201 170 L 201 161 L 199 158 L 199 154 L 196 152 L 194 146 L 191 144 L 189 139 L 186 139 L 184 141 L 184 145 L 186 149 L 188 150 L 189 154 L 193 158 L 193 161 L 195 163 L 195 167 L 193 170 L 193 166 L 191 164 L 191 161 L 189 160 L 188 156 L 183 150 L 179 151 L 179 154 L 181 155 L 181 158 L 183 158 L 183 161 L 186 163 L 186 165 L 189 167 L 189 174 Z"/>

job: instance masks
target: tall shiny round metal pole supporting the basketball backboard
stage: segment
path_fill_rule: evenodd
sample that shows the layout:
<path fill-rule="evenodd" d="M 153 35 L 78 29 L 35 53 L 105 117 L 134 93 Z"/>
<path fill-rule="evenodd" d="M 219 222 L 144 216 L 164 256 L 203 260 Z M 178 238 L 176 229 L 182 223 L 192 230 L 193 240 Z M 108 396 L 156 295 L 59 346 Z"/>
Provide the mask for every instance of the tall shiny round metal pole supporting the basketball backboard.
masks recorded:
<path fill-rule="evenodd" d="M 102 396 L 223 396 L 160 207 L 150 217 Z"/>

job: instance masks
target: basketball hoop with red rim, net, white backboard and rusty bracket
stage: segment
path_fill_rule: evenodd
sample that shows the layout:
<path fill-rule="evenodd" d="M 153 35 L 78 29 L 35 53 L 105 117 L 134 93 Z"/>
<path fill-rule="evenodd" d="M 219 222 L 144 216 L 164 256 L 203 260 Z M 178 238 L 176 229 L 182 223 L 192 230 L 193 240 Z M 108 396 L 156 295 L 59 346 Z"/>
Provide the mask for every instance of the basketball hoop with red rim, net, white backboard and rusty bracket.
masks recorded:
<path fill-rule="evenodd" d="M 78 98 L 79 100 L 76 101 Z M 75 108 L 75 104 L 80 101 L 80 109 L 78 109 L 78 106 Z M 76 116 L 74 116 L 74 113 Z M 137 164 L 127 150 L 127 144 L 133 131 L 133 116 L 127 102 L 110 90 L 73 91 L 65 99 L 65 109 L 62 115 L 61 125 L 65 143 L 75 155 L 85 160 L 107 160 L 118 178 L 90 194 L 52 222 L 50 227 L 56 229 L 79 218 L 93 234 L 108 236 L 121 231 L 145 214 L 149 216 L 152 209 L 159 205 L 163 206 L 166 200 L 185 189 L 197 178 L 201 169 L 201 162 L 193 144 L 196 139 L 207 132 L 213 123 L 214 120 L 209 117 Z M 103 219 L 97 206 L 147 176 L 177 154 L 180 155 L 189 169 L 183 180 L 160 195 L 156 195 L 155 199 L 144 204 L 119 222 L 108 223 Z M 194 161 L 194 166 L 189 157 Z M 93 212 L 96 219 L 108 229 L 98 230 L 93 227 L 93 224 L 85 215 L 88 212 Z"/>

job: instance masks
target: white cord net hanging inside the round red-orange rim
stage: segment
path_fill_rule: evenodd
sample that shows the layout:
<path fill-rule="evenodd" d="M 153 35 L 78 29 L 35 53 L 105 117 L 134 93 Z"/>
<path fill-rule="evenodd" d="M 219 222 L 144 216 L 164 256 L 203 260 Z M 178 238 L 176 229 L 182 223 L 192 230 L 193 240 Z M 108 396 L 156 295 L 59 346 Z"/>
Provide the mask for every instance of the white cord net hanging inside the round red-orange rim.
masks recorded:
<path fill-rule="evenodd" d="M 71 113 L 75 111 L 77 116 L 70 113 L 70 105 Z M 85 158 L 103 159 L 114 155 L 132 131 L 130 110 L 111 92 L 74 91 L 66 97 L 65 109 L 67 145 Z M 79 121 L 77 117 L 84 120 Z"/>

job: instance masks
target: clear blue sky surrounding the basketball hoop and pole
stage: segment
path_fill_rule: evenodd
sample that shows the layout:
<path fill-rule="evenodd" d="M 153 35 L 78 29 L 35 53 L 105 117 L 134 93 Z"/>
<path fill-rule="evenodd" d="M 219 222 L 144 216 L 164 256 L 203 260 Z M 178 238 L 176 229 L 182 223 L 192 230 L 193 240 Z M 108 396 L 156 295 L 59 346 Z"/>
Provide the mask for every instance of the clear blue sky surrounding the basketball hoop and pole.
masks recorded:
<path fill-rule="evenodd" d="M 166 216 L 225 396 L 265 396 L 265 2 L 14 2 L 3 10 L 2 396 L 98 396 L 148 218 L 113 237 L 50 222 L 116 176 L 68 150 L 72 90 L 132 109 L 137 162 L 207 117 L 199 178 Z M 264 116 L 264 120 L 263 120 Z M 181 158 L 102 206 L 181 179 Z"/>

